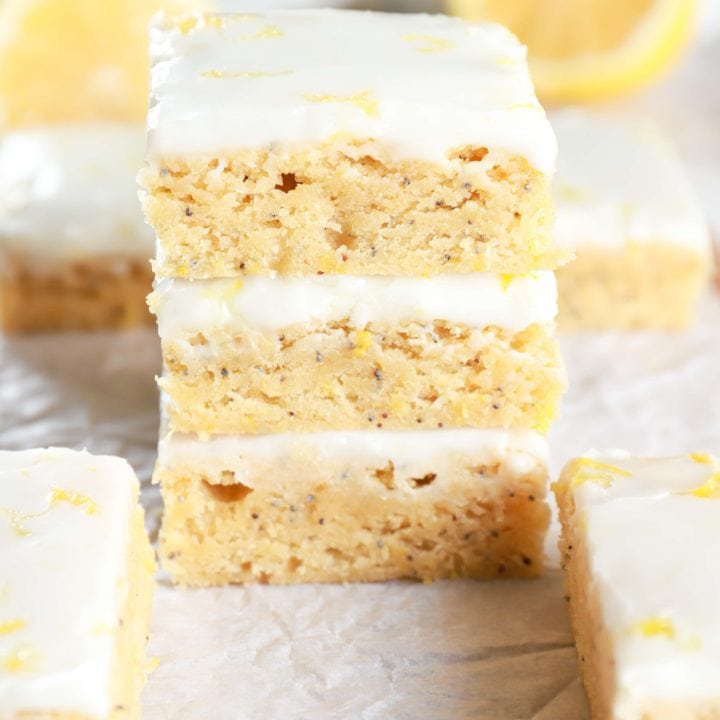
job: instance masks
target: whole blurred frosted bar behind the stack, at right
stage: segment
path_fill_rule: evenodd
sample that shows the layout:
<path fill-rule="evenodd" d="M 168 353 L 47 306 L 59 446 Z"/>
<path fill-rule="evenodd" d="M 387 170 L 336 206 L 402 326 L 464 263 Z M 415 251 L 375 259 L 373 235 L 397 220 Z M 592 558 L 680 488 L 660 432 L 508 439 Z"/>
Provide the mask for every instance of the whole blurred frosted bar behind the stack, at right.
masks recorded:
<path fill-rule="evenodd" d="M 707 222 L 680 159 L 653 125 L 580 110 L 552 117 L 562 329 L 678 329 L 710 275 Z"/>

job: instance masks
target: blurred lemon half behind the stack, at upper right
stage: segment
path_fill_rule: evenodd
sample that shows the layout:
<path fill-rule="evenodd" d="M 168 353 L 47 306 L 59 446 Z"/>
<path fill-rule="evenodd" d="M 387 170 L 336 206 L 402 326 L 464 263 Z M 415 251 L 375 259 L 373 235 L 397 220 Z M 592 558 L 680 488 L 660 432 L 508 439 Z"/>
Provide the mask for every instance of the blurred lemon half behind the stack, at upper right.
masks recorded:
<path fill-rule="evenodd" d="M 538 94 L 600 100 L 661 75 L 692 35 L 696 0 L 447 0 L 450 12 L 509 27 L 528 46 Z"/>

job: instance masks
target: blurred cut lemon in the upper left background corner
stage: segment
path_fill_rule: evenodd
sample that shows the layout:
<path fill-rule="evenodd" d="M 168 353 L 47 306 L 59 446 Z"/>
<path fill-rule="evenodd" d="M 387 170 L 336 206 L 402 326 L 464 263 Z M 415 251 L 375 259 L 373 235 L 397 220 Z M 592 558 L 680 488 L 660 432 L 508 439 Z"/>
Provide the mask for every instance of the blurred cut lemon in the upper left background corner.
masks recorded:
<path fill-rule="evenodd" d="M 142 121 L 148 23 L 191 0 L 0 2 L 0 125 Z"/>

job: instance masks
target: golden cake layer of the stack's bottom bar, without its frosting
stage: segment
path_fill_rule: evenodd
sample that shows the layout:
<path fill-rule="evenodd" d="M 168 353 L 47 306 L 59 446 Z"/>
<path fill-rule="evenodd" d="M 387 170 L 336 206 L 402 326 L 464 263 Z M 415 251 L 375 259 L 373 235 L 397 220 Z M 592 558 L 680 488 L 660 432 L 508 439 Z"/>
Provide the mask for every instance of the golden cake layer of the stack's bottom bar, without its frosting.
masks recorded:
<path fill-rule="evenodd" d="M 549 521 L 542 471 L 456 458 L 406 478 L 392 463 L 308 460 L 238 482 L 193 467 L 156 471 L 163 565 L 181 585 L 533 577 Z M 257 482 L 255 482 L 257 481 Z M 251 487 L 255 485 L 255 487 Z"/>

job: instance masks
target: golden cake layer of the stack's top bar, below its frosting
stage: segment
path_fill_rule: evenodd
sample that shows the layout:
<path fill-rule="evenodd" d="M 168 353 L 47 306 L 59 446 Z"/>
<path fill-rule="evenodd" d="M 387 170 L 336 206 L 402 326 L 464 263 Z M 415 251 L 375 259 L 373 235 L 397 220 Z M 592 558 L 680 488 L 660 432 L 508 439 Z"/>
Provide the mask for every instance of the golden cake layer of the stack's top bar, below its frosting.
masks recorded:
<path fill-rule="evenodd" d="M 155 158 L 140 182 L 156 273 L 527 272 L 563 257 L 549 180 L 523 158 L 468 147 L 440 165 L 364 142 Z"/>

